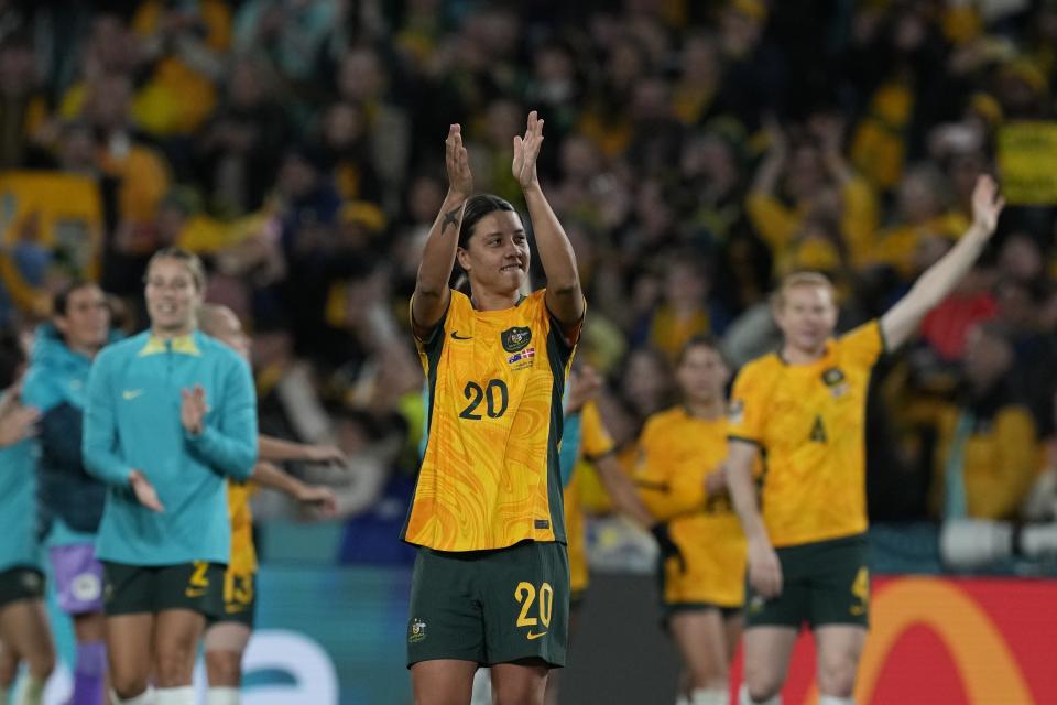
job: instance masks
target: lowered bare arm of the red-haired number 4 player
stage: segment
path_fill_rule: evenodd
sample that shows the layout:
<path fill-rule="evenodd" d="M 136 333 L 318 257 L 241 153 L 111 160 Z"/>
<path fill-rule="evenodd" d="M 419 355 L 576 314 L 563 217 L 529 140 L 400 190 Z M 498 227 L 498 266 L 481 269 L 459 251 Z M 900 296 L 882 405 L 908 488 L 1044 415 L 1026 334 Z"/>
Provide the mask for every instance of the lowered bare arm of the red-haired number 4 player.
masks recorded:
<path fill-rule="evenodd" d="M 760 516 L 756 488 L 752 481 L 752 466 L 756 462 L 756 446 L 745 441 L 731 440 L 727 455 L 727 488 L 741 521 L 741 530 L 749 540 L 749 581 L 764 597 L 782 592 L 782 565 L 771 545 L 771 538 Z"/>

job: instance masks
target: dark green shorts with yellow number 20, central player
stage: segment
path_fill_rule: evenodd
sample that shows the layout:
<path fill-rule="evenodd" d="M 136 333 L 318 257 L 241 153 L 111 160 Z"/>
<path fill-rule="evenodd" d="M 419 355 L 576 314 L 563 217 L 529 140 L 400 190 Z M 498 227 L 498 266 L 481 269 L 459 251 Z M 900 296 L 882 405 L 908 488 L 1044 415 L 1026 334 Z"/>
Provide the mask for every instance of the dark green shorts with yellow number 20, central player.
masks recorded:
<path fill-rule="evenodd" d="M 562 666 L 568 621 L 565 544 L 523 541 L 468 552 L 419 547 L 411 579 L 407 665 L 542 659 Z"/>

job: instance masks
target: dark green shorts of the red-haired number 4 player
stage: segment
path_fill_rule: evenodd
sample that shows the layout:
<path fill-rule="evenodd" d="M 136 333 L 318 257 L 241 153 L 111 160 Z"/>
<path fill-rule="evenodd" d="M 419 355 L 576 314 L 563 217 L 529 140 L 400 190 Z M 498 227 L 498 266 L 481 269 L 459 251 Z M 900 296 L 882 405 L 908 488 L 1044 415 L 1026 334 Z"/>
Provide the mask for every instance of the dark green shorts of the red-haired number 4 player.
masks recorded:
<path fill-rule="evenodd" d="M 870 625 L 867 536 L 777 549 L 782 594 L 764 599 L 748 586 L 745 627 Z"/>

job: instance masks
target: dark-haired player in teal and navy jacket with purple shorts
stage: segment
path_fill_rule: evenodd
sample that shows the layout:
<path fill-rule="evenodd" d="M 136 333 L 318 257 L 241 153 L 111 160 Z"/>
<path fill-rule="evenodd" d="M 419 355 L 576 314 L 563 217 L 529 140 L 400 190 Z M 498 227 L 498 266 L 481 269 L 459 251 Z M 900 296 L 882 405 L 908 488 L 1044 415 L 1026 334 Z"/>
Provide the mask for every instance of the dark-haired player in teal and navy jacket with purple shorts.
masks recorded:
<path fill-rule="evenodd" d="M 106 294 L 97 284 L 72 282 L 55 294 L 52 322 L 37 328 L 22 386 L 23 400 L 42 414 L 37 497 L 58 606 L 74 621 L 73 705 L 106 702 L 102 565 L 95 546 L 106 487 L 85 471 L 80 429 L 88 371 L 110 335 Z"/>

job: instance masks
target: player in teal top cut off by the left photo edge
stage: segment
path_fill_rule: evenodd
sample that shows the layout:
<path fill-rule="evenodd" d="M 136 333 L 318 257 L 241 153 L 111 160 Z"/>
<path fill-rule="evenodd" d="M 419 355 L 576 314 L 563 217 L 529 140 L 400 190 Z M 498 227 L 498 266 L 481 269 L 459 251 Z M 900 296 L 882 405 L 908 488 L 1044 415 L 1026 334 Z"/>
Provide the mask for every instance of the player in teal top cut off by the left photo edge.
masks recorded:
<path fill-rule="evenodd" d="M 24 369 L 22 341 L 13 330 L 0 330 L 0 703 L 7 703 L 14 666 L 24 661 L 15 705 L 40 705 L 55 647 L 36 542 L 33 434 L 40 412 L 20 399 Z"/>

